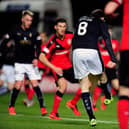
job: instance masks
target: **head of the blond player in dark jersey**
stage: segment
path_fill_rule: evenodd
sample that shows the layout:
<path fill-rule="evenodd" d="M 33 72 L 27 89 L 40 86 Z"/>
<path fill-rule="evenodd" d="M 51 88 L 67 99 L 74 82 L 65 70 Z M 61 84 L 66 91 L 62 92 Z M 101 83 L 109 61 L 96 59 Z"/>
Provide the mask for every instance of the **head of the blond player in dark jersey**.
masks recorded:
<path fill-rule="evenodd" d="M 23 10 L 22 11 L 21 21 L 22 21 L 22 26 L 25 29 L 30 28 L 32 21 L 33 21 L 33 16 L 34 16 L 34 13 L 30 10 Z"/>

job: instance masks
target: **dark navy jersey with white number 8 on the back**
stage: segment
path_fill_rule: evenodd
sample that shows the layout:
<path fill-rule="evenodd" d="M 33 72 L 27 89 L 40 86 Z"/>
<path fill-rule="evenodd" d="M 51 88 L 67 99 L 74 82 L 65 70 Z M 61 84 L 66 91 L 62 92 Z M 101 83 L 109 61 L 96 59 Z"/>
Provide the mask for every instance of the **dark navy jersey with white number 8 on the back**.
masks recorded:
<path fill-rule="evenodd" d="M 106 48 L 112 61 L 116 62 L 106 22 L 95 18 L 92 15 L 83 16 L 78 20 L 72 40 L 72 49 L 85 48 L 99 50 L 98 38 L 100 36 L 105 40 Z"/>

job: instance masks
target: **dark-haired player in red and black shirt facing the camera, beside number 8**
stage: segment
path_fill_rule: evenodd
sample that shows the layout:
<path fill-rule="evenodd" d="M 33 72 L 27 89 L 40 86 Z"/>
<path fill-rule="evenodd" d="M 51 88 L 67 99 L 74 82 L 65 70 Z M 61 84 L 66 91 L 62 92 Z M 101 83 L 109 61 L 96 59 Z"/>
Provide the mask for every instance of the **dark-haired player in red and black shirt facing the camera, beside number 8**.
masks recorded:
<path fill-rule="evenodd" d="M 67 22 L 64 18 L 57 19 L 54 27 L 56 33 L 49 39 L 46 47 L 40 54 L 39 59 L 44 65 L 52 70 L 58 88 L 54 98 L 53 110 L 49 114 L 49 118 L 61 119 L 58 115 L 58 108 L 67 88 L 67 80 L 72 83 L 78 83 L 78 80 L 74 78 L 72 62 L 70 59 L 73 33 L 66 31 Z M 51 60 L 47 59 L 48 55 L 51 55 Z M 77 116 L 80 116 L 80 112 L 76 108 L 76 103 L 80 98 L 79 88 L 72 101 L 67 102 L 67 106 L 71 108 L 73 113 Z"/>

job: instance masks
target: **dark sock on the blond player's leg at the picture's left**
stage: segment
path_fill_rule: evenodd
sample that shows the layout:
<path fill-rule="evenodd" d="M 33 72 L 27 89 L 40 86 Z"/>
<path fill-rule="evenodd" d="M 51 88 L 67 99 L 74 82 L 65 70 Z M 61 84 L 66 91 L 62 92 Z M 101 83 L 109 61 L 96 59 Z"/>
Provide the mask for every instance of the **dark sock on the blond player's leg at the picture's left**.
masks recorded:
<path fill-rule="evenodd" d="M 20 90 L 17 90 L 16 88 L 13 88 L 13 90 L 11 92 L 9 107 L 14 107 L 15 106 L 15 102 L 16 102 L 16 99 L 18 97 L 19 91 Z"/>

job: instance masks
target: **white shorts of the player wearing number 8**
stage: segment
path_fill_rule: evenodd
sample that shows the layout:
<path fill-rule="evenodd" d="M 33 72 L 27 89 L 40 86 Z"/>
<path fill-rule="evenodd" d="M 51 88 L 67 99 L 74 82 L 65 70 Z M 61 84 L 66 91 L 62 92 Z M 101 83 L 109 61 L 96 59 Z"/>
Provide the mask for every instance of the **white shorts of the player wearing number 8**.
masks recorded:
<path fill-rule="evenodd" d="M 75 49 L 73 51 L 73 68 L 76 79 L 82 79 L 89 74 L 99 75 L 103 72 L 103 62 L 94 49 Z"/>

